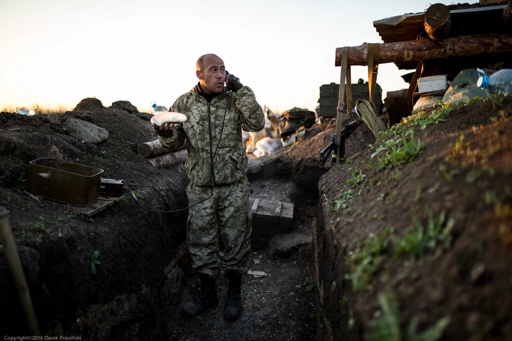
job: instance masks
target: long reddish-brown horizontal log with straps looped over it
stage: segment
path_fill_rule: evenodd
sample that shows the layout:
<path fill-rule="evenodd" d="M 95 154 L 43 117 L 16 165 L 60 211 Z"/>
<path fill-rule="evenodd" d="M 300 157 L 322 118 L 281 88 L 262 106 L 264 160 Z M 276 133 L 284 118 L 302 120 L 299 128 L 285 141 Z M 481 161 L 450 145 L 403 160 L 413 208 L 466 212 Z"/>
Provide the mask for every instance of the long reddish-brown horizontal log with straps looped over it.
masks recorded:
<path fill-rule="evenodd" d="M 334 65 L 342 65 L 342 49 L 336 48 Z M 380 44 L 379 62 L 401 63 L 430 59 L 478 56 L 512 51 L 512 34 L 460 35 L 432 41 L 419 39 Z M 367 65 L 368 44 L 349 47 L 349 65 Z"/>

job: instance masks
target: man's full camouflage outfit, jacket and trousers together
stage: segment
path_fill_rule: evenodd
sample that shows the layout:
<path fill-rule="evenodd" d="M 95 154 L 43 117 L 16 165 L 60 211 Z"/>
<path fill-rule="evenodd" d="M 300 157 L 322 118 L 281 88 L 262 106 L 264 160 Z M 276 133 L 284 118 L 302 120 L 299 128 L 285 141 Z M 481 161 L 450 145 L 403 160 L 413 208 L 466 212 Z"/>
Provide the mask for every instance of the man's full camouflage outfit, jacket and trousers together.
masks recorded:
<path fill-rule="evenodd" d="M 251 215 L 242 129 L 262 130 L 263 110 L 252 90 L 242 87 L 236 93 L 224 91 L 210 103 L 193 88 L 180 96 L 170 111 L 185 114 L 187 120 L 159 139 L 167 148 L 180 147 L 187 139 L 185 168 L 190 178 L 189 205 L 208 198 L 213 190 L 210 199 L 189 209 L 187 239 L 194 269 L 214 278 L 221 271 L 246 273 Z M 222 260 L 218 254 L 219 238 L 226 247 Z"/>

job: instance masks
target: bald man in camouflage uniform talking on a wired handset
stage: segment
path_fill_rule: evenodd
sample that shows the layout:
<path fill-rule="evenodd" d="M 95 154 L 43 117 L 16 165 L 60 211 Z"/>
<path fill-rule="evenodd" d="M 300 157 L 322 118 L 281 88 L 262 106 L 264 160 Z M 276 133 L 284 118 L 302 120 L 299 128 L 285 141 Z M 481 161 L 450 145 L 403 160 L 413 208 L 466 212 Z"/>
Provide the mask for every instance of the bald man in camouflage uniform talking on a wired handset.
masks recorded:
<path fill-rule="evenodd" d="M 218 56 L 201 56 L 196 75 L 198 84 L 169 110 L 185 114 L 187 120 L 154 125 L 164 147 L 177 148 L 187 140 L 188 203 L 197 204 L 189 209 L 188 249 L 201 276 L 201 292 L 182 312 L 194 317 L 216 306 L 215 280 L 222 272 L 229 278 L 224 318 L 234 320 L 242 311 L 241 282 L 248 270 L 251 235 L 242 129 L 262 130 L 265 117 L 252 90 L 233 75 L 226 77 Z M 226 247 L 222 259 L 219 238 Z"/>

